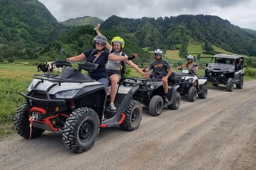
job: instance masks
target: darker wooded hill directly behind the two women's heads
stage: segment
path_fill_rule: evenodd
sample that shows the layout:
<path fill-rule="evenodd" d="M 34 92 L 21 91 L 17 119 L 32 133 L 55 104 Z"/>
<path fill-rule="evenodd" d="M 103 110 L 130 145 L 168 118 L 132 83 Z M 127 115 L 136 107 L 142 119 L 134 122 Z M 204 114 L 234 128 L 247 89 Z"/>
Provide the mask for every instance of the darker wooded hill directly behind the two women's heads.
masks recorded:
<path fill-rule="evenodd" d="M 64 48 L 66 57 L 79 55 L 83 51 L 93 48 L 93 38 L 97 35 L 93 28 L 94 26 L 89 25 L 73 28 L 66 34 L 63 34 L 52 43 L 47 45 L 44 50 L 40 52 L 41 56 L 39 58 L 44 60 L 60 58 L 61 48 Z M 112 38 L 117 36 L 110 31 L 101 30 L 101 33 L 106 36 L 110 44 Z M 141 62 L 150 61 L 150 53 L 142 50 L 142 48 L 140 48 L 137 44 L 126 38 L 124 38 L 124 41 L 124 53 L 127 55 L 139 53 L 139 58 L 133 60 L 135 63 L 139 64 Z"/>

